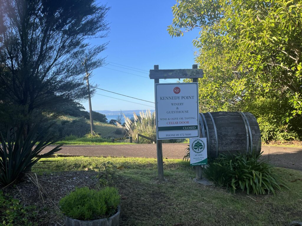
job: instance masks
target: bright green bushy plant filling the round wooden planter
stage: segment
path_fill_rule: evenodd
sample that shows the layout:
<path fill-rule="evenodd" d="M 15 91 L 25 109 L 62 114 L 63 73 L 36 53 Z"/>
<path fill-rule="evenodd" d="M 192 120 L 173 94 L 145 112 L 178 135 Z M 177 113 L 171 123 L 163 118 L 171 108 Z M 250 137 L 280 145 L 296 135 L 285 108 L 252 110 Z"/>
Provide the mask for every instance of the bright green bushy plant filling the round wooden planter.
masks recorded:
<path fill-rule="evenodd" d="M 76 188 L 59 202 L 64 215 L 82 221 L 111 217 L 116 213 L 119 204 L 120 195 L 114 187 L 105 187 L 98 191 L 88 187 Z"/>

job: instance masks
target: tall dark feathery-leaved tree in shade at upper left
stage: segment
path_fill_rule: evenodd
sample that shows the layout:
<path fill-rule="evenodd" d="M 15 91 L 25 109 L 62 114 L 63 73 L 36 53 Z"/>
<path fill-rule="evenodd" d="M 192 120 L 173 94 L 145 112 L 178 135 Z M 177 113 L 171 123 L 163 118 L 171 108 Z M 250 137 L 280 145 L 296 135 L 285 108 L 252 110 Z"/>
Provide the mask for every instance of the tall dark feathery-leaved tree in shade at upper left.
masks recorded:
<path fill-rule="evenodd" d="M 0 102 L 3 114 L 18 109 L 27 131 L 33 118 L 72 100 L 86 99 L 82 66 L 100 67 L 107 35 L 106 5 L 95 0 L 2 0 L 0 2 Z M 94 90 L 92 89 L 92 93 Z M 15 111 L 14 111 L 15 112 Z M 12 118 L 12 117 L 10 117 Z M 12 119 L 10 123 L 15 124 Z"/>

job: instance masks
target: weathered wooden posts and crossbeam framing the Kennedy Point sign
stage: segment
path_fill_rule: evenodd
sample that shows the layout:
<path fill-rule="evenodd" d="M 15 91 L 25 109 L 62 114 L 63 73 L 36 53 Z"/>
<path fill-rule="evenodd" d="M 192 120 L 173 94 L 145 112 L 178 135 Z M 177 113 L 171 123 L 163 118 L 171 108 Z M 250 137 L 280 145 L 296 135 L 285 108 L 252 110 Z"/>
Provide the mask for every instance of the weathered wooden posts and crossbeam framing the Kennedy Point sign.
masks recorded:
<path fill-rule="evenodd" d="M 154 84 L 159 83 L 159 79 L 180 79 L 180 78 L 188 78 L 193 79 L 193 82 L 198 82 L 198 78 L 203 77 L 203 70 L 198 69 L 197 64 L 193 64 L 192 69 L 172 69 L 172 70 L 159 70 L 158 65 L 154 65 L 154 70 L 150 70 L 149 78 L 154 79 Z M 193 84 L 192 84 L 193 85 Z M 156 95 L 156 93 L 155 93 Z M 156 102 L 156 98 L 155 98 Z M 157 113 L 156 116 L 156 124 L 157 124 Z M 158 125 L 156 125 L 158 128 Z M 167 138 L 169 139 L 169 138 Z M 156 150 L 157 150 L 157 171 L 159 180 L 164 179 L 164 170 L 163 170 L 163 162 L 162 162 L 162 140 L 156 140 Z M 201 166 L 196 167 L 196 178 L 201 179 L 202 168 Z"/>

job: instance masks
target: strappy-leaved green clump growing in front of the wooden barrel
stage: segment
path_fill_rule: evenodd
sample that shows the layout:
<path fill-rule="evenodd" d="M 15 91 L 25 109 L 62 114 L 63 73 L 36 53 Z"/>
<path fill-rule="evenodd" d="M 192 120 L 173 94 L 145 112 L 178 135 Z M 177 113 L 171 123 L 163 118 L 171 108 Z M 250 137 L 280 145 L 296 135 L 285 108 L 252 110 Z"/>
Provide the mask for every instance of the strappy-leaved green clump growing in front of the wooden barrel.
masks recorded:
<path fill-rule="evenodd" d="M 261 154 L 220 154 L 204 169 L 204 175 L 232 193 L 241 189 L 248 194 L 275 194 L 276 189 L 281 190 L 281 186 L 286 186 L 272 165 L 259 160 Z"/>

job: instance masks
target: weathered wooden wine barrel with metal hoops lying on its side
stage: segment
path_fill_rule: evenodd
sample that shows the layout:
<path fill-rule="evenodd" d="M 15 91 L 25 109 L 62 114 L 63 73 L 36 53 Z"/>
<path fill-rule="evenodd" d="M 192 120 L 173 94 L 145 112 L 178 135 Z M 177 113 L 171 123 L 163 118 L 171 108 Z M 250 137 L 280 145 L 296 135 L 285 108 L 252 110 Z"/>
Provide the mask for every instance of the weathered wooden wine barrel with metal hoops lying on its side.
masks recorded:
<path fill-rule="evenodd" d="M 217 111 L 200 113 L 201 137 L 207 138 L 207 153 L 261 152 L 258 122 L 249 112 Z"/>

